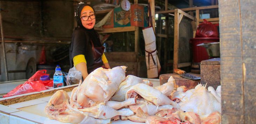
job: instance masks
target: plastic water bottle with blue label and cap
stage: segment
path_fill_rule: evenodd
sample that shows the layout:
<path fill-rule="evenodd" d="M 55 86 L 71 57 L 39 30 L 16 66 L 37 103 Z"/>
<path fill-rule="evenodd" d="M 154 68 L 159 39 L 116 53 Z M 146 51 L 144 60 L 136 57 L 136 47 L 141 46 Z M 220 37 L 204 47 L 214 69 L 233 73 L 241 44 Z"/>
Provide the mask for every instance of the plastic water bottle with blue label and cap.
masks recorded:
<path fill-rule="evenodd" d="M 63 74 L 61 72 L 61 69 L 57 67 L 53 75 L 53 88 L 63 87 Z"/>

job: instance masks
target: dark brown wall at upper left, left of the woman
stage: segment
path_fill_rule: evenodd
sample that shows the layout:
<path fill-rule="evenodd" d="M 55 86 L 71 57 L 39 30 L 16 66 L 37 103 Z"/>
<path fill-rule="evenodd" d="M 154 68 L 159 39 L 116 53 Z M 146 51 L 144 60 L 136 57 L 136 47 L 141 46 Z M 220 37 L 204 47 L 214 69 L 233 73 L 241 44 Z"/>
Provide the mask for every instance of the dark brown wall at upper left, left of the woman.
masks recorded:
<path fill-rule="evenodd" d="M 1 1 L 6 38 L 70 38 L 73 32 L 73 1 Z"/>

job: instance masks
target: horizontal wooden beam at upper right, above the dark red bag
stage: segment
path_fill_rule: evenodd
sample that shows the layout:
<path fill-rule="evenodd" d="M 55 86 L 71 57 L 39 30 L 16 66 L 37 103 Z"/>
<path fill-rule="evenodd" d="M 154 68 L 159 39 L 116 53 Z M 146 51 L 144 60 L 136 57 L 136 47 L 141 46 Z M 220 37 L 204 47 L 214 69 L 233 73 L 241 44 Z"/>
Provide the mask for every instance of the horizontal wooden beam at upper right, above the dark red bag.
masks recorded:
<path fill-rule="evenodd" d="M 218 8 L 218 5 L 183 8 L 183 9 L 180 9 L 180 10 L 182 10 L 182 11 L 192 11 L 192 10 L 197 10 L 197 9 L 213 9 L 213 8 Z M 167 14 L 167 13 L 174 13 L 174 10 L 164 10 L 164 11 L 156 12 L 156 14 Z"/>

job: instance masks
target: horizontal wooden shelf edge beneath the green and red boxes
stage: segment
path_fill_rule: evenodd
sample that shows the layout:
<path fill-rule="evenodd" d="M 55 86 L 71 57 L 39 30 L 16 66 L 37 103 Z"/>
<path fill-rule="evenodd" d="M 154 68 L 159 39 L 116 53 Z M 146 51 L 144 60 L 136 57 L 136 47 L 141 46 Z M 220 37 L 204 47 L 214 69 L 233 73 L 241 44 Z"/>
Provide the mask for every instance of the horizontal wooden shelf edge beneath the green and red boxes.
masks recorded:
<path fill-rule="evenodd" d="M 105 28 L 104 31 L 100 31 L 98 33 L 103 34 L 103 33 L 135 31 L 135 30 L 136 30 L 135 26 L 129 26 L 129 27 L 118 27 L 118 28 Z"/>

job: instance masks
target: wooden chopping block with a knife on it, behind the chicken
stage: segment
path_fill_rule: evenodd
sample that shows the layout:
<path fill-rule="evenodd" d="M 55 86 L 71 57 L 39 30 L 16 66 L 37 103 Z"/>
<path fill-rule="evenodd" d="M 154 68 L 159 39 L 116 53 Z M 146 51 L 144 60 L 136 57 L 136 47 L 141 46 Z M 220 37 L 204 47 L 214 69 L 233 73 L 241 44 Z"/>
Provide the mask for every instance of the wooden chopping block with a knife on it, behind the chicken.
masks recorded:
<path fill-rule="evenodd" d="M 192 74 L 192 75 L 200 77 L 200 74 Z M 196 85 L 198 85 L 198 83 L 200 83 L 200 80 L 190 80 L 190 79 L 182 78 L 178 74 L 171 73 L 171 74 L 161 74 L 159 76 L 160 85 L 163 85 L 164 83 L 166 83 L 170 78 L 170 76 L 173 76 L 173 78 L 175 79 L 175 83 L 176 85 L 178 85 L 178 87 L 185 86 L 188 89 L 193 89 L 195 88 Z"/>

